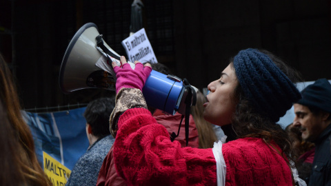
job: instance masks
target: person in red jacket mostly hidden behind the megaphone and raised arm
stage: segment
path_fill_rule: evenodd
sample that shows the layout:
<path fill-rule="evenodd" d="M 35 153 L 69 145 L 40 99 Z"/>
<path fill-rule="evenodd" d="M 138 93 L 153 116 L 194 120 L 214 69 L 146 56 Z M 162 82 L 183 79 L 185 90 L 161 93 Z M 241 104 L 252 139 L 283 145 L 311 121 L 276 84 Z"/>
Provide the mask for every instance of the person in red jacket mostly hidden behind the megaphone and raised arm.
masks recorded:
<path fill-rule="evenodd" d="M 152 63 L 151 65 L 152 68 L 157 72 L 167 75 L 171 74 L 170 69 L 162 63 Z M 157 122 L 163 125 L 168 130 L 169 136 L 171 136 L 172 132 L 175 132 L 175 134 L 177 134 L 181 121 L 181 114 L 179 114 L 178 112 L 176 112 L 174 115 L 165 114 L 163 111 L 155 109 L 154 107 L 148 107 L 148 110 L 152 113 L 152 116 L 157 120 Z M 184 126 L 184 123 L 182 123 L 179 135 L 174 138 L 175 141 L 181 143 L 181 147 L 186 147 Z M 190 114 L 188 147 L 199 147 L 199 141 L 200 137 L 197 131 L 196 123 L 192 114 Z M 126 185 L 125 180 L 123 180 L 123 178 L 121 178 L 116 172 L 113 158 L 113 147 L 108 152 L 101 167 L 101 171 L 99 172 L 97 186 L 103 185 Z"/>

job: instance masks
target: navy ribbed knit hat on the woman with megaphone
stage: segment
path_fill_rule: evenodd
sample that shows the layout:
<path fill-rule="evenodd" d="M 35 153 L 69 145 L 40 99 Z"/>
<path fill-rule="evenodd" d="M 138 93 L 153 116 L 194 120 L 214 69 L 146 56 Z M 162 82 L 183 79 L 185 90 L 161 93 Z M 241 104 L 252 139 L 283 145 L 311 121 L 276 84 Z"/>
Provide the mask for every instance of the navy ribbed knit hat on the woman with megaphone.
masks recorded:
<path fill-rule="evenodd" d="M 241 50 L 234 56 L 233 65 L 239 84 L 254 110 L 274 122 L 301 98 L 288 76 L 267 54 L 257 49 Z"/>

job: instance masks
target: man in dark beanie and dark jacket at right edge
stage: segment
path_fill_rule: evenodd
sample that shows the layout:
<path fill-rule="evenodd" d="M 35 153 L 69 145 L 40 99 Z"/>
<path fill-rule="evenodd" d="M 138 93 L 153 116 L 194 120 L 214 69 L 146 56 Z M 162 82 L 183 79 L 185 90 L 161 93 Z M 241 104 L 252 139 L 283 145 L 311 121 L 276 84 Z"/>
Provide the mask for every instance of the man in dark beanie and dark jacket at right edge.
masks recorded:
<path fill-rule="evenodd" d="M 301 137 L 315 144 L 314 161 L 308 185 L 331 185 L 331 85 L 318 79 L 301 92 L 294 103 L 294 127 Z"/>

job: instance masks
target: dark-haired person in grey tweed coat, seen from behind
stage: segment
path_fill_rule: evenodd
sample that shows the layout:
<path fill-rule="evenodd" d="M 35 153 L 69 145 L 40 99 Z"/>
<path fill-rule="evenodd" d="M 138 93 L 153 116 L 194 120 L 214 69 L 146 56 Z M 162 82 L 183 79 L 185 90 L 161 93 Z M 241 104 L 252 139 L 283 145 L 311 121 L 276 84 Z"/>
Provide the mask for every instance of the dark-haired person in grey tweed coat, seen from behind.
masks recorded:
<path fill-rule="evenodd" d="M 103 159 L 114 143 L 110 135 L 109 116 L 114 109 L 114 97 L 91 101 L 84 112 L 86 135 L 90 146 L 79 158 L 66 185 L 96 185 Z"/>

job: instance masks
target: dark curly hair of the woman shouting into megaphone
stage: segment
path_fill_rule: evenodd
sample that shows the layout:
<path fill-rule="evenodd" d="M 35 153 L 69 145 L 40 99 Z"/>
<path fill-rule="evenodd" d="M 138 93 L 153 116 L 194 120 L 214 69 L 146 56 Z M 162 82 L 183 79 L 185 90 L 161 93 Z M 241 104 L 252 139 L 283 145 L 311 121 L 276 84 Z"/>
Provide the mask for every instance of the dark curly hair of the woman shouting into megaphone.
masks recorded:
<path fill-rule="evenodd" d="M 293 83 L 297 83 L 301 80 L 299 72 L 288 66 L 279 57 L 274 56 L 267 50 L 260 50 L 260 52 L 267 54 Z M 230 60 L 230 65 L 234 70 L 233 59 Z M 289 160 L 294 161 L 294 157 L 291 156 L 291 154 L 293 154 L 291 139 L 281 125 L 272 121 L 272 119 L 265 116 L 265 114 L 261 114 L 254 110 L 252 103 L 248 101 L 239 83 L 237 84 L 237 87 L 235 87 L 232 96 L 234 96 L 234 100 L 237 101 L 236 111 L 232 116 L 232 128 L 237 134 L 237 138 L 262 138 L 263 141 L 268 144 L 270 144 L 271 141 L 274 141 L 274 143 L 277 143 L 281 148 L 281 156 L 283 156 L 285 161 L 288 163 Z"/>

